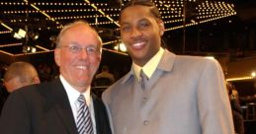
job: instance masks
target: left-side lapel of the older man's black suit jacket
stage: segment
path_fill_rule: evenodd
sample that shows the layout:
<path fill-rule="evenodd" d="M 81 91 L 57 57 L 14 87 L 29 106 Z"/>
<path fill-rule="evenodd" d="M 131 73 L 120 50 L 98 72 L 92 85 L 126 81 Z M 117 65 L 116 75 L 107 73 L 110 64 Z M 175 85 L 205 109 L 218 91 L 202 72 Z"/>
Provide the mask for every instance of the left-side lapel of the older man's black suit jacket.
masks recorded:
<path fill-rule="evenodd" d="M 59 79 L 51 83 L 51 99 L 60 120 L 70 134 L 77 134 L 76 124 L 74 121 L 71 106 L 68 97 Z"/>

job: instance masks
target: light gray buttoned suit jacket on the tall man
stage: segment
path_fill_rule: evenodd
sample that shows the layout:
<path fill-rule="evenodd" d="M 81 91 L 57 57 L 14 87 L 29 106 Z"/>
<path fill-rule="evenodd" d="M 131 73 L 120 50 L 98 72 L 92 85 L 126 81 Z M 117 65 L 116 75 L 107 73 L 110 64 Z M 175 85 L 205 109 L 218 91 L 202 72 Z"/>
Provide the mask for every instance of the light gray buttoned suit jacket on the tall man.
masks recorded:
<path fill-rule="evenodd" d="M 134 72 L 103 93 L 116 134 L 233 134 L 231 109 L 217 61 L 165 50 L 140 89 Z"/>

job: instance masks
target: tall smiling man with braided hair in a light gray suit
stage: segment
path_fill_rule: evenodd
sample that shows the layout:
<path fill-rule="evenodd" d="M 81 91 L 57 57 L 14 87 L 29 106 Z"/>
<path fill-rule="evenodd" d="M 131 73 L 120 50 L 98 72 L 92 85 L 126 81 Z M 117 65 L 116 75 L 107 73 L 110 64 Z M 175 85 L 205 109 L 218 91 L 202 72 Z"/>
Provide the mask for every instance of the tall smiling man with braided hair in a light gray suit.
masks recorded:
<path fill-rule="evenodd" d="M 150 1 L 128 2 L 120 26 L 131 69 L 102 96 L 116 134 L 234 133 L 216 60 L 164 49 L 164 24 Z"/>

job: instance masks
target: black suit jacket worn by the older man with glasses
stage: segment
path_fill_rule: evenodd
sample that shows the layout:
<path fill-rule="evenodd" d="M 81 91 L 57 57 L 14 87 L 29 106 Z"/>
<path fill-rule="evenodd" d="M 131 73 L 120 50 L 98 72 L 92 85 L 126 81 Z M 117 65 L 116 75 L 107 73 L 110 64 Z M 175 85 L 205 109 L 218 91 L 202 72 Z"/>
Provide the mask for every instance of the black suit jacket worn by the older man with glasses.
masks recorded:
<path fill-rule="evenodd" d="M 102 100 L 93 97 L 97 134 L 111 134 Z M 78 134 L 69 100 L 59 79 L 22 88 L 6 101 L 1 134 Z"/>

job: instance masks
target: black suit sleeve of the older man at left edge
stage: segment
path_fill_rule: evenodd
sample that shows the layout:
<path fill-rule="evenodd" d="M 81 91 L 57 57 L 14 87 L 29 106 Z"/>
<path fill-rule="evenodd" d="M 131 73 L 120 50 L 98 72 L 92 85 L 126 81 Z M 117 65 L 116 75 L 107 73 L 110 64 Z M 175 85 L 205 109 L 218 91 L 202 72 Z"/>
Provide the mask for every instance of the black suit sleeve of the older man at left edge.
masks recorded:
<path fill-rule="evenodd" d="M 0 117 L 1 134 L 30 134 L 30 117 L 25 100 L 19 92 L 6 100 Z"/>

